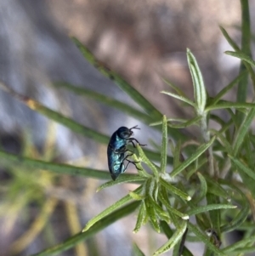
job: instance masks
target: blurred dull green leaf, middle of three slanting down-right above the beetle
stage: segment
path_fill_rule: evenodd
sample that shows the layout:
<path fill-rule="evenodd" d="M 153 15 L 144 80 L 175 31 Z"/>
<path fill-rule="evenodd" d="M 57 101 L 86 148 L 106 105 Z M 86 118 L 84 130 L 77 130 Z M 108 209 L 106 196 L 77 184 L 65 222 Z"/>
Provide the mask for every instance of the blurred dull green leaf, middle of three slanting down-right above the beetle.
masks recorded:
<path fill-rule="evenodd" d="M 109 105 L 119 111 L 122 111 L 123 113 L 126 113 L 127 115 L 137 118 L 141 122 L 150 123 L 152 121 L 150 115 L 144 114 L 143 112 L 138 111 L 132 106 L 127 105 L 122 101 L 110 98 L 105 94 L 99 94 L 88 88 L 74 86 L 68 82 L 53 82 L 53 85 L 55 87 L 66 88 L 79 96 L 85 96 L 85 97 L 88 97 L 89 99 L 93 99 L 105 105 Z"/>

